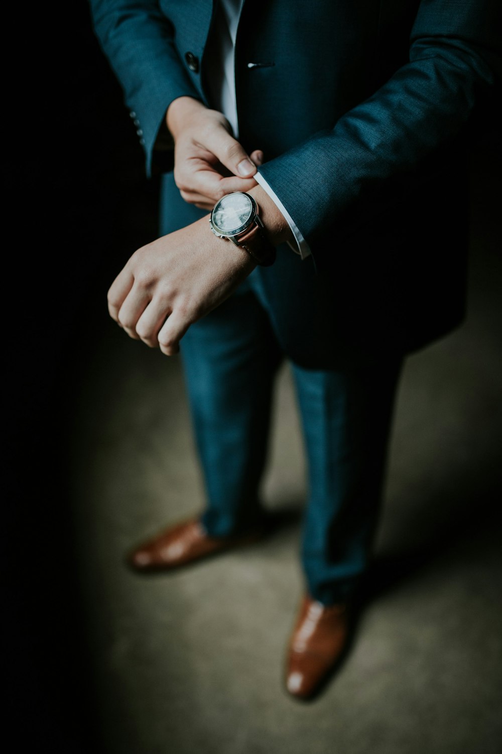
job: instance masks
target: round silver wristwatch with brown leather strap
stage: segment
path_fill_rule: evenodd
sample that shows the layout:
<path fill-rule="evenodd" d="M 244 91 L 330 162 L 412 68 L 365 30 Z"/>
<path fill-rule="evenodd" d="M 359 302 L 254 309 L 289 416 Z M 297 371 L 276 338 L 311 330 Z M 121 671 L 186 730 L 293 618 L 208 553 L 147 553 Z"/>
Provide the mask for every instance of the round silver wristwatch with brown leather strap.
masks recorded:
<path fill-rule="evenodd" d="M 254 198 L 243 192 L 227 194 L 214 204 L 209 223 L 218 238 L 230 238 L 263 267 L 275 262 L 275 247 L 266 237 Z"/>

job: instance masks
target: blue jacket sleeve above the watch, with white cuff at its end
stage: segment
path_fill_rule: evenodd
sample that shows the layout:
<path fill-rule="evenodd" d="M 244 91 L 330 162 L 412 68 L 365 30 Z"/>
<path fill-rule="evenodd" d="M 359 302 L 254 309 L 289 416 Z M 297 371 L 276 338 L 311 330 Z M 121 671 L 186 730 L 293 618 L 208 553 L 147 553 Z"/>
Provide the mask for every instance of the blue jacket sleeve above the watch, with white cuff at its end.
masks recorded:
<path fill-rule="evenodd" d="M 480 100 L 500 93 L 500 8 L 500 0 L 421 0 L 409 62 L 333 130 L 260 167 L 314 256 L 327 227 L 336 233 L 354 211 L 364 222 L 406 192 Z"/>

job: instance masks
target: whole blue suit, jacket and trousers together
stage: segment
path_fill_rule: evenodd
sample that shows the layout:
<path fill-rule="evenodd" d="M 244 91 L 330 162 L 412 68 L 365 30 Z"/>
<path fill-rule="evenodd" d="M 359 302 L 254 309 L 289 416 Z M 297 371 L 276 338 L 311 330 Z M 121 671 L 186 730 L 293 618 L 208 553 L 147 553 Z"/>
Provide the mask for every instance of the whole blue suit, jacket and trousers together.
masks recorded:
<path fill-rule="evenodd" d="M 160 232 L 169 233 L 205 214 L 175 186 L 165 116 L 181 96 L 211 106 L 214 3 L 90 5 L 141 131 L 147 174 L 163 174 Z M 229 529 L 246 510 L 259 511 L 276 357 L 294 365 L 311 468 L 303 565 L 311 593 L 325 602 L 364 570 L 400 360 L 464 317 L 470 130 L 500 78 L 497 0 L 245 0 L 236 39 L 239 141 L 248 153 L 263 150 L 260 173 L 312 256 L 302 261 L 279 247 L 275 264 L 256 268 L 230 302 L 190 327 L 181 346 L 214 534 L 229 533 L 229 511 Z M 273 354 L 263 359 L 269 337 Z M 230 363 L 233 376 L 221 369 Z M 251 384 L 256 363 L 262 367 Z M 236 394 L 246 396 L 239 422 L 232 420 Z M 237 452 L 229 455 L 229 447 Z M 228 458 L 235 499 L 218 513 Z"/>

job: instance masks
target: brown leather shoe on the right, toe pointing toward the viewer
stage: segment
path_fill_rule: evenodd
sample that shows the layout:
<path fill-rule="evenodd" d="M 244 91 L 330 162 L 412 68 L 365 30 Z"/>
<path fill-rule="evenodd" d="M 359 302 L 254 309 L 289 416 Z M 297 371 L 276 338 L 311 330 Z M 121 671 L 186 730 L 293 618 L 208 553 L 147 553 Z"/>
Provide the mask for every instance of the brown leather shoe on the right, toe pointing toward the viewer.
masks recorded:
<path fill-rule="evenodd" d="M 313 698 L 336 669 L 348 645 L 350 612 L 346 604 L 303 597 L 286 664 L 286 688 L 294 697 Z"/>

